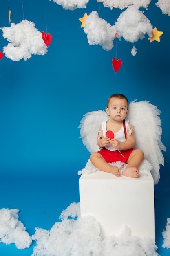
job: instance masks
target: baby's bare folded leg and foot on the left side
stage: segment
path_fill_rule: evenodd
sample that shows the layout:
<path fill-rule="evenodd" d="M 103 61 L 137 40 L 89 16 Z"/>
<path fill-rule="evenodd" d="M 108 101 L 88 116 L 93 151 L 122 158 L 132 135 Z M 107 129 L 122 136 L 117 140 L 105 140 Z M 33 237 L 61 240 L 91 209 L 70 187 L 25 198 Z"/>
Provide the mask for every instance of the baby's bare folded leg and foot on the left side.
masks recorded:
<path fill-rule="evenodd" d="M 100 153 L 98 152 L 92 153 L 90 156 L 90 160 L 95 167 L 99 168 L 99 170 L 105 171 L 107 173 L 112 173 L 115 176 L 120 177 L 119 168 L 108 164 Z"/>

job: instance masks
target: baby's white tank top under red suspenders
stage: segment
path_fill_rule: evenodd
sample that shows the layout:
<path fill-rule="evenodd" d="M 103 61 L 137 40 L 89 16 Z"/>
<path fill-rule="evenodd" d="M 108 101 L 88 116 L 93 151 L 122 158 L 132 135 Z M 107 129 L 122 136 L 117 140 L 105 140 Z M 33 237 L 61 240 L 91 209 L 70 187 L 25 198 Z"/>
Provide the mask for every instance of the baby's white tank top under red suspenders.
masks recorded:
<path fill-rule="evenodd" d="M 109 120 L 109 119 L 108 119 L 108 120 Z M 102 130 L 103 130 L 103 137 L 106 136 L 106 131 L 107 131 L 107 130 L 106 130 L 106 122 L 107 122 L 108 120 L 103 121 L 102 124 L 101 124 L 101 125 L 102 125 Z M 128 128 L 128 123 L 129 123 L 129 121 L 125 119 L 126 131 L 127 131 L 127 128 Z M 125 133 L 124 133 L 124 126 L 122 125 L 121 129 L 120 129 L 118 132 L 114 133 L 114 135 L 115 135 L 115 139 L 117 139 L 117 140 L 119 140 L 119 141 L 121 141 L 121 142 L 126 141 Z M 110 143 L 108 146 L 105 146 L 105 148 L 108 149 L 108 150 L 110 150 L 110 151 L 124 150 L 124 149 L 122 149 L 122 148 L 113 148 L 113 146 L 112 146 L 111 143 Z"/>

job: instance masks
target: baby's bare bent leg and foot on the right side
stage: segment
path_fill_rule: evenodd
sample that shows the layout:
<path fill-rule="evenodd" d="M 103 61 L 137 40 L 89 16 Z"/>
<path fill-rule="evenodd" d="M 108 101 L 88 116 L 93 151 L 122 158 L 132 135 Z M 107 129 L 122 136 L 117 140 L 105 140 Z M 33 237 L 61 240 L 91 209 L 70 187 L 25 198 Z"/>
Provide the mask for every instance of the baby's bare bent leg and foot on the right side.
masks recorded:
<path fill-rule="evenodd" d="M 144 153 L 143 151 L 139 149 L 135 149 L 130 154 L 128 160 L 126 163 L 128 164 L 122 174 L 126 177 L 130 178 L 138 178 L 139 177 L 139 170 L 137 169 L 138 166 L 141 164 L 141 162 L 144 159 Z"/>

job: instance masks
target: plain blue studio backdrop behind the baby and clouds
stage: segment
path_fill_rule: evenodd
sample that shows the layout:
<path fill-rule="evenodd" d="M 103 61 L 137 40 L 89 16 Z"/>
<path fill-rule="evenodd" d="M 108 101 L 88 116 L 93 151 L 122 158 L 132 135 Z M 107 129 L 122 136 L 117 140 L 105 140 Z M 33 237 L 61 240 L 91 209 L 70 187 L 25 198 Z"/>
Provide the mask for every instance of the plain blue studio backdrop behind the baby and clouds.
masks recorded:
<path fill-rule="evenodd" d="M 88 111 L 105 109 L 111 94 L 123 93 L 129 102 L 148 100 L 162 111 L 166 153 L 155 185 L 155 240 L 160 255 L 170 253 L 161 247 L 161 232 L 170 217 L 170 17 L 156 2 L 144 14 L 163 31 L 160 42 L 149 43 L 146 36 L 134 43 L 137 54 L 132 56 L 133 44 L 123 38 L 111 51 L 89 45 L 79 21 L 95 10 L 114 25 L 119 9 L 111 11 L 96 0 L 74 11 L 49 0 L 2 1 L 0 27 L 9 26 L 10 8 L 11 22 L 19 23 L 24 16 L 39 31 L 46 32 L 47 26 L 53 37 L 44 56 L 0 60 L 0 209 L 19 209 L 19 220 L 30 235 L 35 227 L 51 229 L 63 209 L 79 202 L 77 171 L 86 165 L 89 152 L 77 127 Z M 0 51 L 6 45 L 0 31 Z M 115 74 L 111 61 L 116 55 L 122 66 Z M 18 250 L 0 243 L 0 255 L 30 256 L 35 245 Z"/>

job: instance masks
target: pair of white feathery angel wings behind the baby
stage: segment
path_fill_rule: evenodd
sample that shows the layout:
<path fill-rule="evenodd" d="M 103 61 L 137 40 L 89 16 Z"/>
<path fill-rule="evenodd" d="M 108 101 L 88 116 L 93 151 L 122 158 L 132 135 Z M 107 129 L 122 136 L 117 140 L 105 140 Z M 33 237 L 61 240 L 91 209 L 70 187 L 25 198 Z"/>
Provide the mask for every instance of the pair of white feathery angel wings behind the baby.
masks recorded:
<path fill-rule="evenodd" d="M 145 159 L 153 166 L 151 170 L 154 184 L 159 182 L 160 164 L 164 165 L 164 157 L 161 150 L 166 151 L 161 142 L 161 111 L 149 101 L 132 101 L 129 104 L 129 112 L 126 119 L 132 124 L 135 131 L 136 143 L 134 148 L 143 150 Z M 80 125 L 80 135 L 83 144 L 90 153 L 99 150 L 97 145 L 97 135 L 102 121 L 110 117 L 104 110 L 88 112 L 82 118 Z"/>

